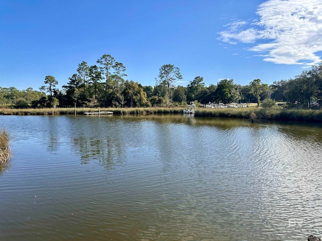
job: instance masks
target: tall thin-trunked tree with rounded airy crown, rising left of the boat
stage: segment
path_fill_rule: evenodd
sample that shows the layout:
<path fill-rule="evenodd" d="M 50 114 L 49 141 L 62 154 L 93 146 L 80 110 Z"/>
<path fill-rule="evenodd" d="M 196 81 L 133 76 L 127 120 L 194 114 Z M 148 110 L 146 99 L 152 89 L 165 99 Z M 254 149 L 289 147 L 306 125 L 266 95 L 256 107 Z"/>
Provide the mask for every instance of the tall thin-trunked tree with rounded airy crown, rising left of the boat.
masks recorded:
<path fill-rule="evenodd" d="M 167 87 L 167 104 L 169 105 L 171 101 L 170 89 L 173 87 L 173 83 L 182 79 L 180 69 L 173 64 L 165 64 L 159 69 L 158 78 L 157 82 Z"/>

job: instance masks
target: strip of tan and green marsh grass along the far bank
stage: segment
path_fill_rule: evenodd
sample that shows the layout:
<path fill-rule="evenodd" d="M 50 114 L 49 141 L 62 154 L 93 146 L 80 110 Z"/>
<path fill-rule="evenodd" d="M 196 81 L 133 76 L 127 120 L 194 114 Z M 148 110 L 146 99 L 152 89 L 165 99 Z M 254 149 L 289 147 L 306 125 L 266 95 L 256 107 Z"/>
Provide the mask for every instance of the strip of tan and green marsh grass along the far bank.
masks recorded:
<path fill-rule="evenodd" d="M 113 111 L 115 115 L 127 114 L 181 114 L 184 107 L 145 107 L 145 108 L 100 108 L 101 111 Z M 98 111 L 98 108 L 76 108 L 76 114 Z M 75 108 L 0 108 L 1 115 L 61 115 L 75 114 Z M 269 119 L 276 121 L 322 122 L 322 110 L 287 108 L 197 108 L 195 116 L 232 117 L 249 119 Z"/>

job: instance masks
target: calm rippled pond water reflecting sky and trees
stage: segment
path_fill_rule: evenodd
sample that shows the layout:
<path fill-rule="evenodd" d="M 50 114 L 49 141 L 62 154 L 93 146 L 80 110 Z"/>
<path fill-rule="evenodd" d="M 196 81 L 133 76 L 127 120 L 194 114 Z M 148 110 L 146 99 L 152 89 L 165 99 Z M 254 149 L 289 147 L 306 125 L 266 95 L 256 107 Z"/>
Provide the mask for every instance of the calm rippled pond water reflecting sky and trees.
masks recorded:
<path fill-rule="evenodd" d="M 322 126 L 0 116 L 0 240 L 322 237 Z"/>

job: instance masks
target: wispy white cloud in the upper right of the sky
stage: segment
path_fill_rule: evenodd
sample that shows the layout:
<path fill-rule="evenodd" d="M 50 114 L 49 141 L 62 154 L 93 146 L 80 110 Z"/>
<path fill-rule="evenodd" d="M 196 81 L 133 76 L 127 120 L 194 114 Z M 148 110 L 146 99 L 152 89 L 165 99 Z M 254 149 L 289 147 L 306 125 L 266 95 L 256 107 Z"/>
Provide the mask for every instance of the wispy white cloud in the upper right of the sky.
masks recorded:
<path fill-rule="evenodd" d="M 276 64 L 307 67 L 321 61 L 316 55 L 322 51 L 321 0 L 269 0 L 258 7 L 257 14 L 258 20 L 235 20 L 225 25 L 220 39 L 230 44 L 253 44 L 249 50 Z"/>

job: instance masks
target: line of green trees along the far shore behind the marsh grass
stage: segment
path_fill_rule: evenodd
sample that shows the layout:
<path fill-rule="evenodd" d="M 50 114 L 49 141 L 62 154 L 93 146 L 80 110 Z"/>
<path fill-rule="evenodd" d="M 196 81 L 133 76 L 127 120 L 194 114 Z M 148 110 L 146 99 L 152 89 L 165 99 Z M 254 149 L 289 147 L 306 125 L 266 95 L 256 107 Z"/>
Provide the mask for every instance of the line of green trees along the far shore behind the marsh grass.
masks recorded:
<path fill-rule="evenodd" d="M 148 107 L 198 103 L 249 103 L 283 101 L 305 108 L 319 108 L 322 102 L 322 62 L 304 70 L 292 79 L 268 85 L 260 79 L 248 85 L 222 79 L 205 86 L 203 77 L 196 76 L 187 86 L 176 85 L 182 79 L 180 69 L 165 64 L 159 69 L 154 86 L 142 86 L 125 80 L 126 67 L 111 55 L 104 54 L 95 65 L 83 61 L 68 78 L 62 89 L 54 76 L 45 76 L 39 91 L 28 88 L 0 87 L 0 103 L 14 107 Z M 275 101 L 273 101 L 275 100 Z"/>

